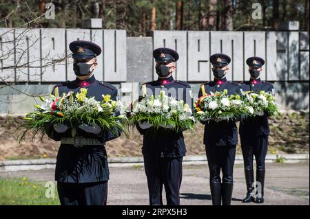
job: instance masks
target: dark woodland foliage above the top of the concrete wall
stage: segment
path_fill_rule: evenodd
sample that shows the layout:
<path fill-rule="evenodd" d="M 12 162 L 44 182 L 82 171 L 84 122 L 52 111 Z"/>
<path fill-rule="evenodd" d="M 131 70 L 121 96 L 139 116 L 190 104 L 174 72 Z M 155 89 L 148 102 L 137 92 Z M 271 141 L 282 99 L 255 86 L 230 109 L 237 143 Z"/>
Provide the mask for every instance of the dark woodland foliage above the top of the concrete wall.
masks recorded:
<path fill-rule="evenodd" d="M 278 21 L 300 21 L 300 30 L 307 31 L 305 5 L 308 0 L 278 1 Z M 156 8 L 156 30 L 176 30 L 175 16 L 177 0 L 54 0 L 55 19 L 42 16 L 49 1 L 5 1 L 0 0 L 0 27 L 62 27 L 81 28 L 83 21 L 103 18 L 105 29 L 125 29 L 129 36 L 145 36 L 151 23 L 152 7 Z M 253 1 L 230 1 L 229 10 L 234 30 L 273 30 L 276 18 L 273 1 L 258 1 L 262 5 L 262 19 L 252 19 Z M 225 30 L 227 7 L 225 1 L 217 1 L 211 11 L 211 0 L 183 1 L 182 30 Z M 103 11 L 102 8 L 105 10 Z M 309 13 L 309 12 L 308 12 Z M 209 22 L 214 14 L 215 27 L 202 27 L 203 19 Z M 40 17 L 41 16 L 41 17 Z M 38 19 L 39 17 L 39 19 Z M 30 22 L 33 21 L 33 22 Z M 309 21 L 308 21 L 309 25 Z M 309 30 L 309 29 L 308 29 Z"/>

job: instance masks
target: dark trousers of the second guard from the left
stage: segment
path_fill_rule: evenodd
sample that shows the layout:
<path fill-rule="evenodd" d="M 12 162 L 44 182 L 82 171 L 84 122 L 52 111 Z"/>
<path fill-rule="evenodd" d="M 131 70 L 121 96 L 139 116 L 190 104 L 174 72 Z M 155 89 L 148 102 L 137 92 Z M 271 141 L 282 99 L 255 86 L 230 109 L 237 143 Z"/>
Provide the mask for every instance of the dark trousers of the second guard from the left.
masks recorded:
<path fill-rule="evenodd" d="M 163 205 L 163 186 L 167 205 L 180 205 L 183 158 L 161 158 L 154 154 L 144 154 L 143 158 L 149 188 L 149 205 Z"/>

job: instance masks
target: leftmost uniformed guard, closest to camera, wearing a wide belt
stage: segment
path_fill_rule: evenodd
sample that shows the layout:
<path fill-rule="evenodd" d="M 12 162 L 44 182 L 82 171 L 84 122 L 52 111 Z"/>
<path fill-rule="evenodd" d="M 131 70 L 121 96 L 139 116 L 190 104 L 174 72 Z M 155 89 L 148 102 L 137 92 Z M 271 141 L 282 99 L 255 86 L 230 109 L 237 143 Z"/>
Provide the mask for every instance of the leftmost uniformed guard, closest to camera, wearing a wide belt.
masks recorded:
<path fill-rule="evenodd" d="M 117 89 L 94 77 L 98 65 L 96 56 L 101 54 L 101 48 L 88 41 L 73 41 L 69 47 L 76 79 L 57 84 L 52 94 L 59 97 L 62 93 L 86 88 L 87 96 L 97 101 L 103 100 L 102 95 L 106 94 L 116 100 Z M 105 142 L 121 135 L 121 131 L 115 136 L 99 126 L 87 125 L 72 131 L 63 124 L 50 124 L 46 129 L 50 138 L 61 141 L 55 170 L 61 205 L 106 205 L 109 168 Z"/>

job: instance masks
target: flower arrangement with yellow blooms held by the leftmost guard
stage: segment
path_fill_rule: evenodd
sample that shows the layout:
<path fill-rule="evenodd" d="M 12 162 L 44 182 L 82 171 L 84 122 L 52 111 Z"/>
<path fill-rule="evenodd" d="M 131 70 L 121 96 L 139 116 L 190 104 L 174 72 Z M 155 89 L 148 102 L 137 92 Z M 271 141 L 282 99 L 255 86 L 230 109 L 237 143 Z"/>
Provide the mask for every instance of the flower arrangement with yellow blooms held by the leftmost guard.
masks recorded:
<path fill-rule="evenodd" d="M 89 126 L 99 126 L 103 132 L 110 131 L 113 135 L 118 135 L 120 130 L 128 136 L 123 115 L 116 116 L 115 113 L 121 109 L 110 95 L 103 95 L 103 100 L 97 102 L 94 97 L 87 97 L 87 89 L 80 89 L 81 93 L 63 93 L 61 98 L 50 95 L 50 99 L 41 101 L 45 104 L 36 105 L 36 110 L 25 116 L 25 121 L 21 125 L 23 134 L 19 137 L 19 142 L 23 140 L 25 134 L 32 130 L 35 135 L 41 133 L 41 139 L 46 134 L 47 126 L 54 124 L 65 124 L 70 128 L 77 128 L 81 124 Z M 55 108 L 53 108 L 56 107 Z M 73 136 L 74 137 L 74 136 Z"/>

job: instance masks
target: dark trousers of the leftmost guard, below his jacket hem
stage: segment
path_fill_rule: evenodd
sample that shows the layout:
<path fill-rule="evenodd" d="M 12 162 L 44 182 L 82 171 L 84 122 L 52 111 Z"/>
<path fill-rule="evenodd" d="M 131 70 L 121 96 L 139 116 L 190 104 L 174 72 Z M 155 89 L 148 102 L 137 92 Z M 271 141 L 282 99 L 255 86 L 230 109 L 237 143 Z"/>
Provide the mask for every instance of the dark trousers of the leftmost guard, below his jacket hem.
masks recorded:
<path fill-rule="evenodd" d="M 107 181 L 57 183 L 61 205 L 107 205 Z"/>

